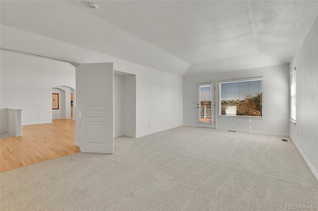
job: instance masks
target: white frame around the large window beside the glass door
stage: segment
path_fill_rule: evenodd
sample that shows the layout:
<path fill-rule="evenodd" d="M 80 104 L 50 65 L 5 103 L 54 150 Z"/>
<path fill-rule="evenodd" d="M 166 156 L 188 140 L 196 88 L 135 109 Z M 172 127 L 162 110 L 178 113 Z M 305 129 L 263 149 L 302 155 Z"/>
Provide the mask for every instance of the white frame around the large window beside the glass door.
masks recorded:
<path fill-rule="evenodd" d="M 226 82 L 238 82 L 238 81 L 256 81 L 262 80 L 262 116 L 244 116 L 244 115 L 224 115 L 221 114 L 221 84 Z M 242 118 L 242 119 L 263 119 L 264 118 L 264 77 L 255 77 L 255 78 L 240 78 L 232 80 L 219 81 L 219 117 L 222 118 Z"/>

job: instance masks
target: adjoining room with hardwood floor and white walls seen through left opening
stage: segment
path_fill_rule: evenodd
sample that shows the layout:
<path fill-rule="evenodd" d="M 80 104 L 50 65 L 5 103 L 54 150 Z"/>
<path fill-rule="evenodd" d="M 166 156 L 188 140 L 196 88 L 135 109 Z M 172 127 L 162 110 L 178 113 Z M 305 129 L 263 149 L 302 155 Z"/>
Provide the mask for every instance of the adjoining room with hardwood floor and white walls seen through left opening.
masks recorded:
<path fill-rule="evenodd" d="M 0 172 L 80 152 L 75 145 L 72 87 L 71 64 L 1 50 Z M 53 93 L 59 96 L 56 109 Z M 9 108 L 22 110 L 18 137 L 9 133 L 14 127 Z"/>

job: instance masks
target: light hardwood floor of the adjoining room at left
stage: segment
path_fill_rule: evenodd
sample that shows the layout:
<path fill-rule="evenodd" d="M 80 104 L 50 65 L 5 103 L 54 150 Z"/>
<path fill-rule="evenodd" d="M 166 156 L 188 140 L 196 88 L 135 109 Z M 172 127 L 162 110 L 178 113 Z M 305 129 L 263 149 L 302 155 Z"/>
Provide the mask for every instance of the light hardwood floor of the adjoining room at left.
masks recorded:
<path fill-rule="evenodd" d="M 80 152 L 75 146 L 75 121 L 71 119 L 26 125 L 22 134 L 0 139 L 0 172 Z"/>

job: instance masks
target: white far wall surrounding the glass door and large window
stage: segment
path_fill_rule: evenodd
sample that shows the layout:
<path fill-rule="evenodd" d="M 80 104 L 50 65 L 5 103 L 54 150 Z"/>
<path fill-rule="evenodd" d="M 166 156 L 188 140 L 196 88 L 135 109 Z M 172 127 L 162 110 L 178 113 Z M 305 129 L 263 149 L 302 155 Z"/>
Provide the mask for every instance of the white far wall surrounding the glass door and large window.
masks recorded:
<path fill-rule="evenodd" d="M 289 65 L 232 72 L 187 75 L 183 80 L 183 123 L 196 125 L 196 84 L 263 77 L 263 119 L 219 117 L 219 84 L 216 83 L 216 127 L 225 130 L 289 134 Z M 242 122 L 239 125 L 239 121 Z"/>

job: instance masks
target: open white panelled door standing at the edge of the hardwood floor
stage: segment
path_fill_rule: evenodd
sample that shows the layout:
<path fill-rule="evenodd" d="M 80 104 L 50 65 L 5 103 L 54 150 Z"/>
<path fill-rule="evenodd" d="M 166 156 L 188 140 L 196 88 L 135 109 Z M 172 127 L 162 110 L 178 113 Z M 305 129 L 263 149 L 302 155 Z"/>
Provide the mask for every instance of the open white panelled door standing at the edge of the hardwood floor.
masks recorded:
<path fill-rule="evenodd" d="M 76 67 L 76 142 L 84 153 L 114 153 L 113 63 Z"/>

